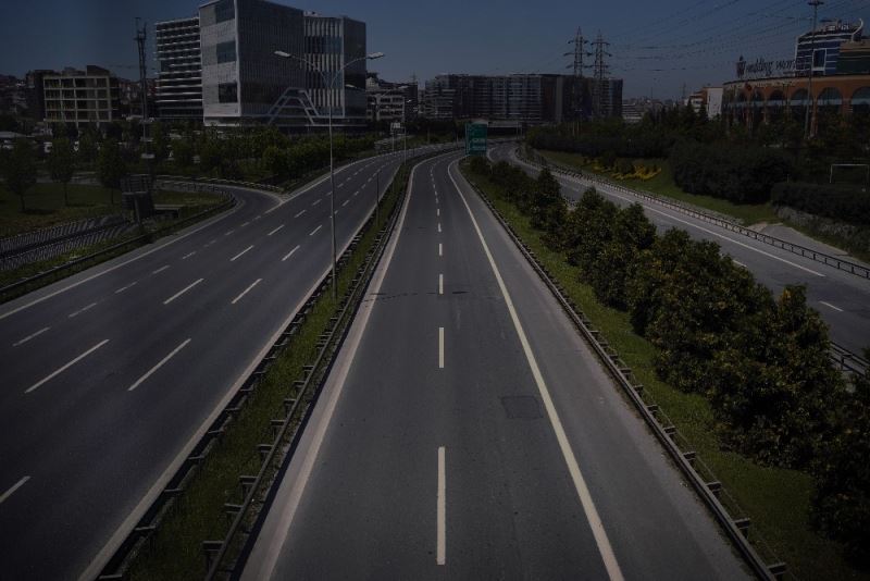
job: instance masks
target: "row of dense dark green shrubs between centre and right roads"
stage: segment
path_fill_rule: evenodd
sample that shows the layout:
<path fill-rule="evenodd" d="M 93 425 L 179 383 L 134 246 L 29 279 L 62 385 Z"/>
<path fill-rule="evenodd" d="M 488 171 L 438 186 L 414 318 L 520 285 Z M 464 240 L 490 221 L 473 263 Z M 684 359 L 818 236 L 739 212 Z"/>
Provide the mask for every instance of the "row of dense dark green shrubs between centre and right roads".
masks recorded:
<path fill-rule="evenodd" d="M 813 473 L 816 524 L 870 559 L 870 381 L 854 378 L 849 393 L 803 286 L 773 297 L 717 244 L 659 236 L 639 205 L 595 189 L 570 209 L 546 169 L 536 180 L 505 162 L 470 169 L 530 215 L 599 300 L 630 313 L 662 380 L 707 397 L 723 445 Z"/>

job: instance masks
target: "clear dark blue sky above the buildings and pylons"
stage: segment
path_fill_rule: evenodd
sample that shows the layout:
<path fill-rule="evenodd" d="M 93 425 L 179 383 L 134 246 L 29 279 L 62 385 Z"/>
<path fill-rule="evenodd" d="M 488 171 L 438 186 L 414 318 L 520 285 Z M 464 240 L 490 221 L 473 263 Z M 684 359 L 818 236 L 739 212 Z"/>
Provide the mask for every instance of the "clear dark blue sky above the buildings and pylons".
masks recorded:
<path fill-rule="evenodd" d="M 366 23 L 370 64 L 387 81 L 423 83 L 440 73 L 567 73 L 577 27 L 610 45 L 611 76 L 623 97 L 679 98 L 734 77 L 734 62 L 794 58 L 811 27 L 805 0 L 276 0 Z M 135 17 L 148 23 L 189 16 L 189 0 L 2 0 L 0 74 L 98 64 L 136 78 Z M 870 0 L 826 0 L 819 18 L 857 21 Z M 149 30 L 152 48 L 153 29 Z M 153 53 L 148 64 L 153 74 Z M 592 47 L 587 47 L 592 51 Z M 586 57 L 592 64 L 592 57 Z M 592 69 L 585 72 L 592 75 Z"/>

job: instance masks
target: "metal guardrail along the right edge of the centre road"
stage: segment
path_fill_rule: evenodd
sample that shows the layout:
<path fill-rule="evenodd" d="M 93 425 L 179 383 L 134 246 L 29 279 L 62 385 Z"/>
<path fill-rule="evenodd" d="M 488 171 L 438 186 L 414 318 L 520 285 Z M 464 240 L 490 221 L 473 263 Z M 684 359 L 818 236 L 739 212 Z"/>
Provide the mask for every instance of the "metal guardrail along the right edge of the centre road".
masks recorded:
<path fill-rule="evenodd" d="M 664 449 L 668 450 L 671 459 L 692 483 L 695 492 L 710 509 L 729 540 L 737 548 L 753 572 L 759 579 L 771 581 L 785 578 L 785 576 L 788 574 L 785 564 L 781 561 L 769 564 L 759 555 L 756 545 L 763 548 L 769 555 L 773 553 L 760 536 L 753 534 L 753 539 L 750 540 L 751 521 L 749 517 L 739 508 L 736 500 L 728 494 L 722 483 L 716 479 L 712 470 L 704 463 L 701 458 L 693 449 L 691 443 L 679 432 L 673 422 L 658 405 L 652 401 L 648 392 L 644 390 L 643 384 L 637 381 L 631 368 L 622 360 L 619 353 L 617 353 L 601 336 L 601 333 L 593 326 L 592 321 L 583 311 L 566 296 L 564 289 L 559 285 L 556 277 L 537 261 L 532 249 L 522 242 L 510 224 L 501 217 L 492 201 L 489 201 L 486 194 L 473 182 L 469 181 L 469 183 L 508 233 L 520 252 L 538 274 L 559 302 L 562 310 L 568 314 L 569 319 L 571 319 L 573 324 L 581 332 L 586 343 L 593 348 L 610 375 L 620 385 Z"/>

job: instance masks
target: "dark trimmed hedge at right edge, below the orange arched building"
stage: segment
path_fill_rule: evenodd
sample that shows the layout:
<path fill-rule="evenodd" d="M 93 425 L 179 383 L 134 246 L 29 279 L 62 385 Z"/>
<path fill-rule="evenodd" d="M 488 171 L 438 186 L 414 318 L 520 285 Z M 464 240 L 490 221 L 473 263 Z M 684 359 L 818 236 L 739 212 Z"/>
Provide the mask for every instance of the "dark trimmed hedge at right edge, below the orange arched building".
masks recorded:
<path fill-rule="evenodd" d="M 782 182 L 771 201 L 849 224 L 870 225 L 870 191 L 857 186 Z"/>

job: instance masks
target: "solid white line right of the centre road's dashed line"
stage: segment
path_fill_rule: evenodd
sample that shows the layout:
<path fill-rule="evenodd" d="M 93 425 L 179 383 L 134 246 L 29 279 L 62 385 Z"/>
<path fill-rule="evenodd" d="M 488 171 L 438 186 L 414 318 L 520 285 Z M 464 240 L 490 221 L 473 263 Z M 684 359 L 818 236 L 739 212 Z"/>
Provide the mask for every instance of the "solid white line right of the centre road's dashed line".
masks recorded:
<path fill-rule="evenodd" d="M 453 162 L 453 164 L 456 164 L 456 162 Z M 451 166 L 453 164 L 451 164 Z M 544 401 L 544 408 L 547 410 L 547 417 L 552 425 L 552 431 L 556 433 L 556 440 L 559 443 L 559 448 L 564 457 L 566 465 L 568 465 L 568 472 L 571 474 L 571 480 L 576 489 L 580 503 L 583 506 L 583 511 L 586 514 L 586 519 L 589 521 L 589 527 L 592 528 L 595 543 L 598 545 L 598 553 L 601 555 L 601 560 L 605 564 L 608 577 L 611 579 L 611 581 L 622 581 L 622 570 L 617 561 L 613 547 L 610 545 L 610 539 L 607 536 L 607 531 L 601 522 L 601 517 L 598 515 L 598 509 L 595 507 L 595 502 L 592 498 L 586 480 L 583 478 L 583 473 L 580 471 L 580 465 L 577 463 L 576 456 L 574 456 L 574 450 L 571 448 L 571 442 L 568 440 L 568 434 L 566 434 L 561 419 L 559 419 L 559 412 L 556 410 L 549 388 L 544 381 L 544 375 L 540 373 L 540 368 L 535 359 L 535 354 L 532 351 L 532 346 L 529 344 L 529 338 L 525 336 L 525 331 L 523 330 L 523 325 L 520 322 L 519 316 L 517 314 L 517 309 L 513 307 L 513 300 L 510 297 L 510 293 L 508 293 L 508 287 L 505 286 L 505 281 L 501 277 L 498 267 L 496 265 L 493 254 L 489 251 L 489 246 L 486 244 L 486 239 L 483 237 L 483 232 L 481 232 L 481 226 L 477 224 L 477 219 L 474 218 L 474 213 L 471 211 L 471 207 L 469 206 L 464 194 L 462 194 L 459 184 L 457 184 L 456 180 L 453 178 L 453 174 L 450 173 L 449 168 L 447 174 L 450 176 L 453 187 L 459 193 L 459 197 L 462 199 L 462 203 L 464 203 L 465 210 L 469 212 L 471 223 L 474 225 L 474 230 L 477 233 L 477 238 L 480 238 L 481 246 L 483 246 L 484 254 L 489 261 L 489 268 L 493 270 L 493 274 L 495 274 L 496 281 L 498 282 L 498 287 L 501 289 L 501 296 L 505 298 L 505 304 L 508 307 L 511 321 L 513 321 L 517 335 L 522 344 L 525 359 L 529 362 L 532 375 L 537 384 L 540 399 Z"/>

